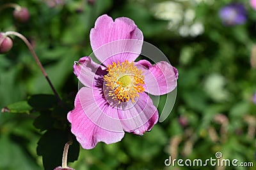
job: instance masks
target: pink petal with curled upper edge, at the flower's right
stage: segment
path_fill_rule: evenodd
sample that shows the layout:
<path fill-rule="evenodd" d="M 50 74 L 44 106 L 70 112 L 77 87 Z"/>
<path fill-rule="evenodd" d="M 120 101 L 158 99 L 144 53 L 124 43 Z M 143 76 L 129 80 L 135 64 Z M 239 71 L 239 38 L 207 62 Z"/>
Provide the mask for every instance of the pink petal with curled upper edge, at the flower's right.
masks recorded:
<path fill-rule="evenodd" d="M 147 60 L 140 60 L 136 66 L 144 71 L 145 92 L 158 96 L 172 92 L 177 86 L 179 73 L 168 62 L 161 61 L 152 65 Z"/>

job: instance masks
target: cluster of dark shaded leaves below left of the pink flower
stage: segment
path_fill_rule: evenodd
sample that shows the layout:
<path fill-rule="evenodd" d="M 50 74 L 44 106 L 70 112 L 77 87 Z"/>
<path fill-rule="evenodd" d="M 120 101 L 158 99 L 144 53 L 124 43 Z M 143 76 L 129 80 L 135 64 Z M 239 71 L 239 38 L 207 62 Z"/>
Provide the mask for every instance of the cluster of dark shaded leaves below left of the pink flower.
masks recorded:
<path fill-rule="evenodd" d="M 61 165 L 65 143 L 72 141 L 69 149 L 68 162 L 74 162 L 79 155 L 79 143 L 71 134 L 66 115 L 72 108 L 68 107 L 52 95 L 34 95 L 29 97 L 28 103 L 33 106 L 39 116 L 33 125 L 40 131 L 45 131 L 36 148 L 37 154 L 43 157 L 44 169 L 54 169 Z"/>

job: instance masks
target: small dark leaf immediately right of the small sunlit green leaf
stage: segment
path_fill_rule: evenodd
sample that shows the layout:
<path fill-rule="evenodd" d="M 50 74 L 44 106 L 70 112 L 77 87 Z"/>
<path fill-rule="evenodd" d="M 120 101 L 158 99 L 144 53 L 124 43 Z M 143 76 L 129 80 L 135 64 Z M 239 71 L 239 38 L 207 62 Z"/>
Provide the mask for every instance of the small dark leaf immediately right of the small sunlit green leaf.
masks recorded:
<path fill-rule="evenodd" d="M 36 110 L 47 110 L 55 106 L 58 100 L 51 94 L 36 94 L 29 97 L 28 103 Z"/>

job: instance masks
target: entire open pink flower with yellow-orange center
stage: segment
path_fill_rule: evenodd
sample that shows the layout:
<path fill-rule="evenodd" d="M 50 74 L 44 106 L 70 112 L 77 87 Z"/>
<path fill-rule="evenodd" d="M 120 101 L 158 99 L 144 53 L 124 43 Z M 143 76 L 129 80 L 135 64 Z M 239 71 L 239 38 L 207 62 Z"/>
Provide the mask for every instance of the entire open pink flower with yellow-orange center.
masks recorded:
<path fill-rule="evenodd" d="M 77 141 L 91 149 L 100 141 L 120 141 L 124 132 L 150 131 L 158 112 L 147 93 L 159 96 L 175 89 L 177 69 L 164 61 L 134 62 L 141 53 L 143 34 L 129 18 L 115 22 L 108 15 L 97 18 L 90 42 L 102 65 L 91 57 L 74 64 L 74 74 L 85 86 L 67 116 Z"/>

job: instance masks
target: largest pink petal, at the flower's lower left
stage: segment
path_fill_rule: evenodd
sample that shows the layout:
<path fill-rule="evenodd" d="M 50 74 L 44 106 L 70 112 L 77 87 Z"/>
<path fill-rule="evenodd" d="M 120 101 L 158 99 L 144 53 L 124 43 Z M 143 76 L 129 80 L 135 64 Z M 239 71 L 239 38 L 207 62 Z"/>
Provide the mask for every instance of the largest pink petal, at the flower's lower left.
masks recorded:
<path fill-rule="evenodd" d="M 109 107 L 100 90 L 83 87 L 75 100 L 75 108 L 67 115 L 71 131 L 85 149 L 102 141 L 116 143 L 124 138 L 117 111 Z"/>

